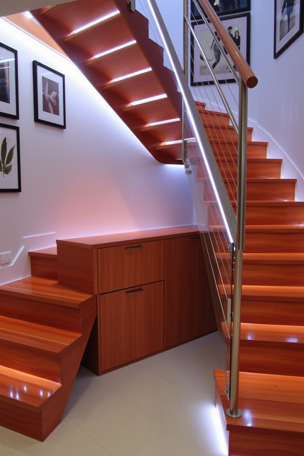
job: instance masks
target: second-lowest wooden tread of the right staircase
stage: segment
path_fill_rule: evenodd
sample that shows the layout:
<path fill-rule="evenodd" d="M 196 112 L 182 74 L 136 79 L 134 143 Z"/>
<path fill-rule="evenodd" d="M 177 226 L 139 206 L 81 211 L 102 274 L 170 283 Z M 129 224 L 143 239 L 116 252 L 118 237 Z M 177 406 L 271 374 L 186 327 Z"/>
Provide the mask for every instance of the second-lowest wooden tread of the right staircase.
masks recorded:
<path fill-rule="evenodd" d="M 244 340 L 294 343 L 298 348 L 304 344 L 304 326 L 241 323 L 241 341 Z"/>

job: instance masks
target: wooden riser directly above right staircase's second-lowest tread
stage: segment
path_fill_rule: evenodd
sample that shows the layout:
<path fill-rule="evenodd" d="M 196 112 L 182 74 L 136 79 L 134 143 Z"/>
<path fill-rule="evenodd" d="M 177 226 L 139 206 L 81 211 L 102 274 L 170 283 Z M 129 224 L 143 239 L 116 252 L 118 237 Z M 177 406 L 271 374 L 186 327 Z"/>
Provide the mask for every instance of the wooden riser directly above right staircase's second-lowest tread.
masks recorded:
<path fill-rule="evenodd" d="M 290 298 L 291 300 L 292 298 Z M 243 323 L 304 326 L 304 297 L 301 301 L 258 300 L 242 296 L 241 320 Z"/>

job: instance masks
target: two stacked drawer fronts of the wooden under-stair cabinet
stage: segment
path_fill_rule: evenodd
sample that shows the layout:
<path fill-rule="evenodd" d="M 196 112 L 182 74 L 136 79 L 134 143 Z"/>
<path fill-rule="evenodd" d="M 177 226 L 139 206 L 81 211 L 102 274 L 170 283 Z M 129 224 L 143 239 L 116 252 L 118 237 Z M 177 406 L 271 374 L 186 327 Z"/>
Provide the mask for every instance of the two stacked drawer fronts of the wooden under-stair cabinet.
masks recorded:
<path fill-rule="evenodd" d="M 98 249 L 101 370 L 164 347 L 164 240 Z"/>

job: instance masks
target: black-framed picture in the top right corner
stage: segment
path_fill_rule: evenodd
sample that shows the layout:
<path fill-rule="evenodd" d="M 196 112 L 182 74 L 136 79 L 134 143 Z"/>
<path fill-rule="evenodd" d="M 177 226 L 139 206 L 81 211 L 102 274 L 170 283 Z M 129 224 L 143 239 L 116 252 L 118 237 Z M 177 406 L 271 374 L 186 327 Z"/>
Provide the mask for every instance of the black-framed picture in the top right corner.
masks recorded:
<path fill-rule="evenodd" d="M 303 33 L 304 0 L 274 0 L 274 48 L 277 58 Z"/>

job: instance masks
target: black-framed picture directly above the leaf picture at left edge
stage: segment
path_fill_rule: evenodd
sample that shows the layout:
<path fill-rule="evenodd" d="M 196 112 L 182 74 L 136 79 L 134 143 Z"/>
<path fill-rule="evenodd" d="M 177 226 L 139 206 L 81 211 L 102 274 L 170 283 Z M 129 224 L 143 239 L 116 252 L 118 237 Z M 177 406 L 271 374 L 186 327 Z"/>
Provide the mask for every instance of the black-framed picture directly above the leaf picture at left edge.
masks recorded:
<path fill-rule="evenodd" d="M 17 51 L 0 43 L 0 115 L 19 119 Z"/>

